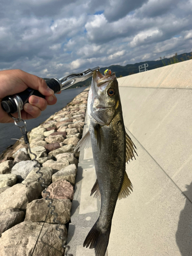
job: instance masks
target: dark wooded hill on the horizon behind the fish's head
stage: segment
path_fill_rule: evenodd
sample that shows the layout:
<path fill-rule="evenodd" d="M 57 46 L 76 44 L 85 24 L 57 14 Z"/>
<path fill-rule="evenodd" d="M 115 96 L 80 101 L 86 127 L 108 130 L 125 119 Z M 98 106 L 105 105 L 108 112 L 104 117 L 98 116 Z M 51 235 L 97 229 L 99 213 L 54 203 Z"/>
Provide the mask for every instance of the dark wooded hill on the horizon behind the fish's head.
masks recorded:
<path fill-rule="evenodd" d="M 173 57 L 170 57 L 170 58 L 163 57 L 160 60 L 152 60 L 152 61 L 146 60 L 146 61 L 135 63 L 135 64 L 127 64 L 124 67 L 120 65 L 112 65 L 110 67 L 100 68 L 99 71 L 103 74 L 106 69 L 111 69 L 112 72 L 115 72 L 116 77 L 129 76 L 129 75 L 139 73 L 139 66 L 143 65 L 144 63 L 148 64 L 147 70 L 152 70 L 152 69 L 157 69 L 163 66 L 172 65 L 174 63 L 189 60 L 189 59 L 192 59 L 192 52 L 183 53 L 180 55 L 177 55 L 176 53 Z M 76 88 L 76 87 L 90 86 L 91 79 L 92 78 L 90 77 L 86 81 L 75 83 L 73 86 L 70 87 L 70 89 Z"/>

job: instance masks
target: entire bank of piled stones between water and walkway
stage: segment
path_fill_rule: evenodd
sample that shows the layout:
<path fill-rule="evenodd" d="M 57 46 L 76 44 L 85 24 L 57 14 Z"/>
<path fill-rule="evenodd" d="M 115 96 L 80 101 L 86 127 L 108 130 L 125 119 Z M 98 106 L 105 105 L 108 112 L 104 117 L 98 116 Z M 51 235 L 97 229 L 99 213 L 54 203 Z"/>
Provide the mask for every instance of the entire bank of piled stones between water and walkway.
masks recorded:
<path fill-rule="evenodd" d="M 87 98 L 88 89 L 28 133 L 31 152 L 40 163 L 66 238 L 79 157 L 74 148 L 82 137 Z M 47 255 L 48 250 L 50 256 L 63 255 L 54 216 L 50 212 L 47 215 L 49 200 L 38 182 L 40 175 L 33 159 L 23 138 L 0 156 L 1 256 L 31 255 L 44 221 L 33 255 Z"/>

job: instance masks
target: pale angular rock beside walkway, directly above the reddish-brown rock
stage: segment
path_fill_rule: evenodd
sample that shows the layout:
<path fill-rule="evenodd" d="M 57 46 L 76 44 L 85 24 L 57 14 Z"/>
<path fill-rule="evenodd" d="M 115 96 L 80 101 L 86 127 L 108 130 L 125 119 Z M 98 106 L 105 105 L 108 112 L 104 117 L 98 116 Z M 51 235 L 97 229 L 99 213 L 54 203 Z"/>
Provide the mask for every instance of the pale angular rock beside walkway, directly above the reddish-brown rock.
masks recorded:
<path fill-rule="evenodd" d="M 75 164 L 70 164 L 65 168 L 62 168 L 52 176 L 52 181 L 66 179 L 72 185 L 75 185 L 75 178 L 77 173 L 77 167 Z"/>

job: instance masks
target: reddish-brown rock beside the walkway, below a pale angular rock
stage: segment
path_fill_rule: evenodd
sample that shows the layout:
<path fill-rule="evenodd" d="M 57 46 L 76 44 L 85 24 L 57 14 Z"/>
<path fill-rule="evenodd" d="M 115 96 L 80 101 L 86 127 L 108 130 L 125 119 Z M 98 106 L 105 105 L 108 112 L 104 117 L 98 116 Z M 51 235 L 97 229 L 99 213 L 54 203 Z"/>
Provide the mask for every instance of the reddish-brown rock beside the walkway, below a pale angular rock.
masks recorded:
<path fill-rule="evenodd" d="M 74 189 L 67 180 L 57 180 L 48 186 L 47 191 L 50 192 L 52 199 L 70 199 L 73 200 Z M 42 191 L 42 198 L 46 198 L 47 194 Z"/>

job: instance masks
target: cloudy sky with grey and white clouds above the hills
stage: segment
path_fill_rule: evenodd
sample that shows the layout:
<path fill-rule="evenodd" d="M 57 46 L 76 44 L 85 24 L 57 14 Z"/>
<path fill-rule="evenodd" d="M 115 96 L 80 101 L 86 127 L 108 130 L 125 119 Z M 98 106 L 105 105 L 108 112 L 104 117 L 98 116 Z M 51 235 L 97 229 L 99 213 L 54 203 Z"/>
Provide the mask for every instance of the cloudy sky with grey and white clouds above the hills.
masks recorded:
<path fill-rule="evenodd" d="M 0 70 L 57 77 L 192 51 L 192 0 L 1 0 Z"/>

